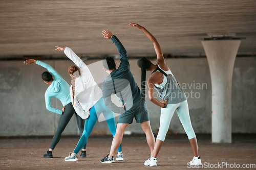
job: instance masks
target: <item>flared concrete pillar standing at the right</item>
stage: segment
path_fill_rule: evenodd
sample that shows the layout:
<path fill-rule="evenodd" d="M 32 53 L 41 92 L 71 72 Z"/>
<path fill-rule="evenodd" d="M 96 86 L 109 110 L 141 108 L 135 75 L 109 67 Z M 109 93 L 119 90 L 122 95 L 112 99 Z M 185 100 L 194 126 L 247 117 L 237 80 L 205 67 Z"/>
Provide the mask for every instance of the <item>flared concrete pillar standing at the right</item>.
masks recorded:
<path fill-rule="evenodd" d="M 212 88 L 211 141 L 231 143 L 231 83 L 241 40 L 202 41 Z"/>

